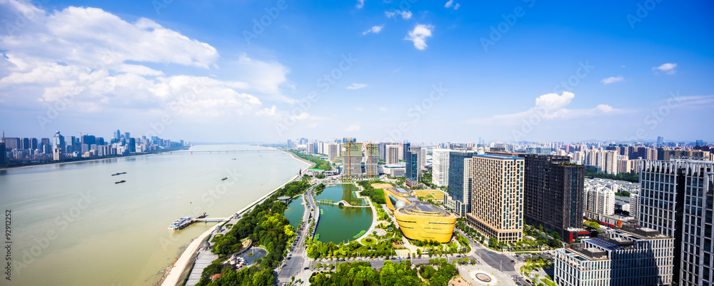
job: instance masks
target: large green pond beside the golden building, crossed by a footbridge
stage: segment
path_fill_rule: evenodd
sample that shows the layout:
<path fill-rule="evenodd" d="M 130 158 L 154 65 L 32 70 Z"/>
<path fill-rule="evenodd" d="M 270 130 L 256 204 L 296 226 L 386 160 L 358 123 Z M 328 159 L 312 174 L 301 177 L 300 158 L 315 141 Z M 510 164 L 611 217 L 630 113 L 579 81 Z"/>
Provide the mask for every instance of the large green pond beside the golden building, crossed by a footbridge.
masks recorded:
<path fill-rule="evenodd" d="M 361 199 L 354 197 L 354 191 L 358 190 L 354 185 L 340 184 L 325 190 L 316 196 L 317 200 L 347 200 L 350 204 L 359 203 L 363 205 Z M 351 200 L 351 201 L 350 201 Z M 346 208 L 338 205 L 320 205 L 323 213 L 320 215 L 320 223 L 317 227 L 317 234 L 320 235 L 321 242 L 341 243 L 353 240 L 353 236 L 362 230 L 369 230 L 372 225 L 371 208 Z"/>

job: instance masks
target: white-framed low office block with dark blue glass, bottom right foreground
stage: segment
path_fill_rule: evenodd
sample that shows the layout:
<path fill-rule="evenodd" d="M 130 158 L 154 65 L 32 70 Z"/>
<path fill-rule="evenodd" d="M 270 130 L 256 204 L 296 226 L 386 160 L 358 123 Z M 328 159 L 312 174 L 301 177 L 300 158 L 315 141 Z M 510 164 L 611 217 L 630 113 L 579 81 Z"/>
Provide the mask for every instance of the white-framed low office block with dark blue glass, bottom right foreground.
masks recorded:
<path fill-rule="evenodd" d="M 555 250 L 553 281 L 561 286 L 672 285 L 674 251 L 673 238 L 623 225 Z"/>

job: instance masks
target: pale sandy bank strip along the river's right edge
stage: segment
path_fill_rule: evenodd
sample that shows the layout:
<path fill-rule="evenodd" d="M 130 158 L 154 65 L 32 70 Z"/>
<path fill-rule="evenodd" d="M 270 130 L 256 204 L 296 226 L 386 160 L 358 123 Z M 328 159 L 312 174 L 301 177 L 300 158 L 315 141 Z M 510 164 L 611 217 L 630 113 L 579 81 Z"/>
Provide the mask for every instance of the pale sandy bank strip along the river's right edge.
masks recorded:
<path fill-rule="evenodd" d="M 271 147 L 268 147 L 271 148 Z M 276 149 L 276 148 L 274 148 Z M 279 150 L 279 149 L 276 149 Z M 283 151 L 285 152 L 285 151 Z M 312 168 L 315 163 L 312 163 L 308 160 L 301 160 L 301 158 L 293 155 L 292 153 L 285 152 L 290 154 L 293 158 L 296 158 L 297 160 L 302 161 L 303 163 L 307 163 L 308 166 L 303 168 L 303 173 L 308 170 L 309 168 Z M 285 185 L 288 183 L 291 183 L 292 181 L 299 179 L 300 177 L 298 175 L 294 175 L 293 178 L 288 180 L 287 182 L 283 183 L 283 185 L 280 185 L 278 188 L 275 188 L 271 190 L 270 192 L 266 193 L 266 195 L 263 195 L 261 198 L 258 198 L 258 200 L 253 201 L 250 205 L 246 205 L 246 207 L 242 208 L 241 210 L 238 210 L 238 215 L 242 216 L 246 210 L 250 210 L 253 208 L 255 205 L 258 205 L 259 203 L 262 203 L 263 200 L 266 200 L 266 198 L 270 197 L 275 193 L 277 190 L 280 188 L 283 188 Z M 226 223 L 230 221 L 231 218 L 228 220 L 224 220 L 221 223 Z M 178 260 L 174 262 L 174 265 L 171 266 L 171 269 L 169 272 L 167 272 L 166 275 L 161 279 L 160 285 L 161 286 L 176 286 L 176 285 L 181 285 L 183 283 L 183 280 L 186 279 L 186 276 L 188 275 L 188 271 L 191 270 L 191 267 L 193 266 L 193 259 L 196 257 L 196 252 L 198 251 L 198 247 L 201 247 L 201 243 L 203 240 L 205 240 L 208 235 L 211 235 L 213 232 L 213 228 L 210 228 L 206 230 L 206 232 L 202 233 L 198 238 L 194 239 L 191 241 L 191 243 L 188 244 L 188 247 L 186 247 L 186 250 L 183 250 L 183 253 L 181 253 L 181 256 L 178 257 Z"/>

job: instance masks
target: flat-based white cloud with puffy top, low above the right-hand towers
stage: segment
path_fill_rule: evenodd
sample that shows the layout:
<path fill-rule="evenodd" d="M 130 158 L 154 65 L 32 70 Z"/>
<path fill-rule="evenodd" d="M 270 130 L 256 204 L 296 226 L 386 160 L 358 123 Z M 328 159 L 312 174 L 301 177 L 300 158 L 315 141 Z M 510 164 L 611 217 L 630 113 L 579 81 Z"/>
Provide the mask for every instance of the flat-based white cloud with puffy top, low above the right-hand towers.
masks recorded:
<path fill-rule="evenodd" d="M 467 123 L 476 125 L 518 126 L 524 121 L 552 121 L 557 119 L 583 118 L 603 116 L 605 114 L 626 113 L 623 109 L 613 108 L 607 104 L 599 104 L 594 108 L 565 108 L 575 98 L 575 94 L 564 91 L 563 94 L 547 93 L 535 98 L 535 106 L 519 113 L 491 116 L 489 118 L 471 119 Z"/>

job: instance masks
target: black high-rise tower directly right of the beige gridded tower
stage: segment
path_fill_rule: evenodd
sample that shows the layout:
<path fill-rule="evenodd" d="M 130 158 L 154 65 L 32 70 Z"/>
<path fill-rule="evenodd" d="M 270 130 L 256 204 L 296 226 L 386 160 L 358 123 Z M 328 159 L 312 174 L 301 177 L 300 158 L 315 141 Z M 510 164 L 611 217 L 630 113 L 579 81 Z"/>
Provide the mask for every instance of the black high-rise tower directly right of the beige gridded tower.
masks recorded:
<path fill-rule="evenodd" d="M 582 229 L 585 167 L 570 164 L 568 156 L 527 154 L 524 159 L 526 223 L 555 231 L 565 242 L 577 240 L 586 233 Z"/>

